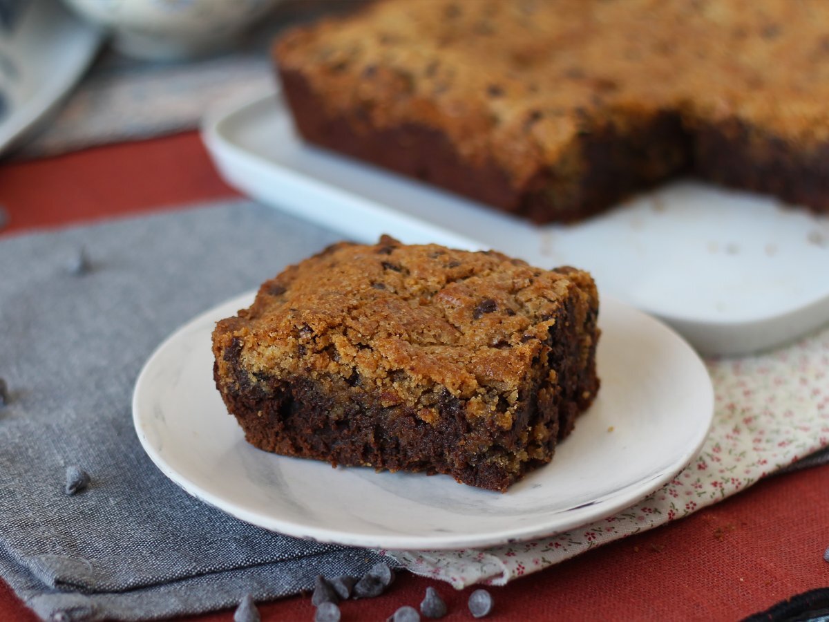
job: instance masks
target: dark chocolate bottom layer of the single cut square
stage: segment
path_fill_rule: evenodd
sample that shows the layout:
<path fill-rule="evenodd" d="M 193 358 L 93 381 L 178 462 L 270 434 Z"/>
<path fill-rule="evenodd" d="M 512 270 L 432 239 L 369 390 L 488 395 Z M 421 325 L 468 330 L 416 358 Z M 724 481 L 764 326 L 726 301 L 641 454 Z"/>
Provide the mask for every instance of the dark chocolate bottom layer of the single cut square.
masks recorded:
<path fill-rule="evenodd" d="M 515 425 L 506 431 L 492 426 L 492 420 L 471 424 L 463 414 L 463 402 L 445 390 L 436 399 L 439 424 L 429 425 L 410 407 L 384 407 L 366 400 L 347 381 L 332 393 L 308 378 L 261 377 L 263 385 L 256 389 L 246 381 L 245 370 L 232 353 L 235 377 L 242 382 L 223 391 L 223 397 L 245 430 L 245 440 L 259 449 L 332 465 L 447 474 L 463 484 L 505 491 L 527 471 L 550 462 L 557 441 L 570 434 L 576 416 L 592 403 L 599 388 L 594 352 L 591 365 L 584 369 L 570 369 L 567 364 L 578 348 L 573 337 L 557 343 L 550 357 L 559 360 L 548 364 L 554 368 L 557 364 L 566 380 L 560 389 L 550 381 L 527 386 Z M 214 374 L 221 384 L 217 367 Z M 342 415 L 335 419 L 332 411 Z M 519 433 L 526 429 L 541 434 L 522 440 Z M 480 445 L 486 445 L 482 451 L 458 449 L 476 436 L 482 438 Z M 514 454 L 522 451 L 539 457 L 516 463 Z"/>

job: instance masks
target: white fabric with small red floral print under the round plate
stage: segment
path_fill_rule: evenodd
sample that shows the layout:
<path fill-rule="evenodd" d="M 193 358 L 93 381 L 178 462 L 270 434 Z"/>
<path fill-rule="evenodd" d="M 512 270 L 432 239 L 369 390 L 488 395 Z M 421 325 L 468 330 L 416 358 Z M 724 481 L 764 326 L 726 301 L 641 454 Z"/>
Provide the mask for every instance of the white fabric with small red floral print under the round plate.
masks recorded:
<path fill-rule="evenodd" d="M 715 415 L 696 459 L 631 508 L 584 527 L 483 550 L 385 552 L 461 589 L 504 585 L 717 503 L 829 445 L 829 328 L 756 357 L 707 362 Z"/>

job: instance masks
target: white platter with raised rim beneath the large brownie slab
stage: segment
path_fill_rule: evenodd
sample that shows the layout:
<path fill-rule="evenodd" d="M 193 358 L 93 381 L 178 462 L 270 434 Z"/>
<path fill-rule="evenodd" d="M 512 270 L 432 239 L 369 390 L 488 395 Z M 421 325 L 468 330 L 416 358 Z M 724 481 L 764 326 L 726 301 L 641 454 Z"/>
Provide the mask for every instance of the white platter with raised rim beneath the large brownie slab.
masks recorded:
<path fill-rule="evenodd" d="M 274 93 L 208 115 L 203 135 L 225 179 L 261 202 L 358 241 L 389 233 L 576 265 L 705 354 L 753 352 L 829 321 L 829 218 L 769 197 L 679 182 L 578 225 L 533 226 L 308 146 Z"/>

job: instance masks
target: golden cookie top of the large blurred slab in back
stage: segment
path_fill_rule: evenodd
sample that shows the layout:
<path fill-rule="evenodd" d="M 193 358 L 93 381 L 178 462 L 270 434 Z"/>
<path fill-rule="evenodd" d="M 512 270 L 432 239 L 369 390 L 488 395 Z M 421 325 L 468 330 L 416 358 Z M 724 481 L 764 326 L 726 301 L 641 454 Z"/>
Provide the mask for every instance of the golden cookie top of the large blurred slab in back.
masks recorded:
<path fill-rule="evenodd" d="M 664 110 L 799 152 L 829 140 L 825 0 L 381 0 L 292 32 L 276 56 L 328 114 L 439 129 L 516 187 L 578 174 L 579 136 Z"/>

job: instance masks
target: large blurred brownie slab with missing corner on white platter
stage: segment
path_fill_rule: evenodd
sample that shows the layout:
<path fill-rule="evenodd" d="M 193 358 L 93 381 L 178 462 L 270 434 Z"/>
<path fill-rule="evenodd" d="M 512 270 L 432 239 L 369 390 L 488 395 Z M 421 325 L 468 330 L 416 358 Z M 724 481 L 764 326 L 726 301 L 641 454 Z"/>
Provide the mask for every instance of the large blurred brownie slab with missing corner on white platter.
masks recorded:
<path fill-rule="evenodd" d="M 688 173 L 829 213 L 829 2 L 378 0 L 274 46 L 299 133 L 536 222 Z"/>

